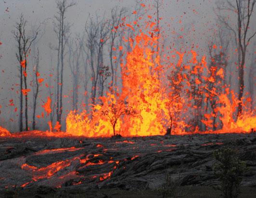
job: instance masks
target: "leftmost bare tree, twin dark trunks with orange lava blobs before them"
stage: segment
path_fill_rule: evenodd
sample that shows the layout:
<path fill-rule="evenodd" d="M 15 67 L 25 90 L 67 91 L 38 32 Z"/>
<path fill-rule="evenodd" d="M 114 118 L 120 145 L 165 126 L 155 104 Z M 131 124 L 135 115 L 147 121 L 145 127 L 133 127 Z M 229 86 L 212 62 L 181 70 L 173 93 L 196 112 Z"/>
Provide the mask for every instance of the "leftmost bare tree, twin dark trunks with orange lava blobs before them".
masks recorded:
<path fill-rule="evenodd" d="M 20 78 L 20 119 L 19 119 L 19 130 L 23 131 L 23 96 L 25 96 L 25 124 L 26 131 L 28 131 L 28 115 L 27 115 L 27 101 L 28 92 L 27 89 L 27 56 L 33 41 L 37 38 L 37 33 L 34 36 L 27 35 L 26 32 L 27 21 L 23 15 L 20 16 L 19 21 L 14 26 L 13 36 L 17 43 L 16 58 L 19 62 L 19 78 Z M 23 84 L 24 88 L 23 89 Z"/>

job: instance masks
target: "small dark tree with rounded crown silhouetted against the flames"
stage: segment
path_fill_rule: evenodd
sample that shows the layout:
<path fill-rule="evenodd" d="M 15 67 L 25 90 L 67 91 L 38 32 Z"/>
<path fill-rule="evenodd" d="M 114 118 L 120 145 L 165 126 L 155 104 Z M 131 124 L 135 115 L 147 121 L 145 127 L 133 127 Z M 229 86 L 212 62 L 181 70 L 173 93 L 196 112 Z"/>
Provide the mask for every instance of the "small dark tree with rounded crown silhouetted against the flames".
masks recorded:
<path fill-rule="evenodd" d="M 120 101 L 120 102 L 112 103 L 108 105 L 108 109 L 102 110 L 102 114 L 108 117 L 113 127 L 113 133 L 115 136 L 116 135 L 115 127 L 118 119 L 120 119 L 124 115 L 134 116 L 136 112 L 132 106 L 128 105 L 127 102 Z"/>

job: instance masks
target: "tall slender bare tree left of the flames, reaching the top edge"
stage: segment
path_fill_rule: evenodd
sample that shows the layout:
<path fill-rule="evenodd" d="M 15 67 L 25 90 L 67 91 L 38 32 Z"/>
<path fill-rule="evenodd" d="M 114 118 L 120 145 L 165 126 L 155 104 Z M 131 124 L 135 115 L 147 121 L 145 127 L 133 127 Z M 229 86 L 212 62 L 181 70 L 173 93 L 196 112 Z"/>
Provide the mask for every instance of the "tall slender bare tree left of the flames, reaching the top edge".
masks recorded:
<path fill-rule="evenodd" d="M 54 16 L 54 32 L 58 39 L 57 46 L 57 121 L 61 125 L 62 116 L 62 95 L 63 95 L 63 69 L 64 69 L 64 55 L 65 45 L 67 43 L 67 36 L 70 30 L 70 24 L 66 23 L 67 9 L 74 6 L 75 2 L 68 2 L 68 0 L 57 0 L 57 15 Z"/>

